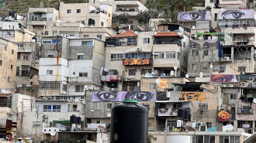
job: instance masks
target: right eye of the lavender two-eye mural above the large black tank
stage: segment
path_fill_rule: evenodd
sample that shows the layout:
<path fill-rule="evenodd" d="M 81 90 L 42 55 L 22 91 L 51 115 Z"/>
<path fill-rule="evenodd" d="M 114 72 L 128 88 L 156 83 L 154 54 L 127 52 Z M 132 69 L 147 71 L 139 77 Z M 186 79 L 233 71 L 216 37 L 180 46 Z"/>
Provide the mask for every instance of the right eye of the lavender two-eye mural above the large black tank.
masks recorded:
<path fill-rule="evenodd" d="M 150 92 L 128 92 L 126 94 L 126 100 L 147 101 L 152 97 L 153 95 Z"/>

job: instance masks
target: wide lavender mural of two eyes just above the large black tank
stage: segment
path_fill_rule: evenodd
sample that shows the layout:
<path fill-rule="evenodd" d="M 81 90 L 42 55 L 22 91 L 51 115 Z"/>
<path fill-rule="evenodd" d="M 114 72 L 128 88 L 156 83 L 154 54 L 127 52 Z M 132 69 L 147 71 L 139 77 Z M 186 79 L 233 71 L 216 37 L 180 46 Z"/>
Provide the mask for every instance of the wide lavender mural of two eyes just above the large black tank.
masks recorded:
<path fill-rule="evenodd" d="M 101 91 L 92 93 L 92 101 L 120 102 L 123 100 L 155 101 L 156 92 L 148 91 Z"/>

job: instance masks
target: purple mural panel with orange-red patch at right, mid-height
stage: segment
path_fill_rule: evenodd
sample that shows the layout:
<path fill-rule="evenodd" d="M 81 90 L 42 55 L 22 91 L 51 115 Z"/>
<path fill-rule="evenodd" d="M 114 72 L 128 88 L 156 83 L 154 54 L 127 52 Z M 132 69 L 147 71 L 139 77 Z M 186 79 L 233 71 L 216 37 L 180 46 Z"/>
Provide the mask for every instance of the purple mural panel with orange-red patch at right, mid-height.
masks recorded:
<path fill-rule="evenodd" d="M 236 75 L 212 74 L 211 82 L 232 83 L 232 82 L 237 82 L 237 77 Z"/>

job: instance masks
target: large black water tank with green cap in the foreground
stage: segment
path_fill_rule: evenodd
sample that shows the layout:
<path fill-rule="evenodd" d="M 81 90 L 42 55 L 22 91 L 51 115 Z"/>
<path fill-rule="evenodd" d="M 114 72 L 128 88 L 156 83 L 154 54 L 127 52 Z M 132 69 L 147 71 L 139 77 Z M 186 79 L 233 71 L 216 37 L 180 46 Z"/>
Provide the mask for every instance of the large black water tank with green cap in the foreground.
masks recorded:
<path fill-rule="evenodd" d="M 148 109 L 137 100 L 112 107 L 110 143 L 147 143 Z"/>

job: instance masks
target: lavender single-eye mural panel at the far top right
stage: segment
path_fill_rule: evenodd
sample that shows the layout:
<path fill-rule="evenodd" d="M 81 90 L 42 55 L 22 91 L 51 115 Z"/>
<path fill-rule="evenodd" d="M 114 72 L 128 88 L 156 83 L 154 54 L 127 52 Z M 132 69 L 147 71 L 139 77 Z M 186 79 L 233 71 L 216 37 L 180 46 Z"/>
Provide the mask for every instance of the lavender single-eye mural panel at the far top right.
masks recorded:
<path fill-rule="evenodd" d="M 219 19 L 254 19 L 254 9 L 220 11 Z"/>

